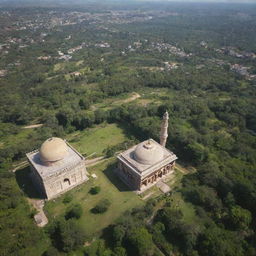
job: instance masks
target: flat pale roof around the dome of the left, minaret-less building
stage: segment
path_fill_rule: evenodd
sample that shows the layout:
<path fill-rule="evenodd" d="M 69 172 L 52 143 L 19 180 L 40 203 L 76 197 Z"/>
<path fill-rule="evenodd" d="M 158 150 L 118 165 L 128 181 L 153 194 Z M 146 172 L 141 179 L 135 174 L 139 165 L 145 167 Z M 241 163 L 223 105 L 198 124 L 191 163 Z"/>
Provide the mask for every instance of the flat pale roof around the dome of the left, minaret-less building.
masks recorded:
<path fill-rule="evenodd" d="M 84 157 L 78 153 L 73 147 L 71 147 L 68 143 L 68 155 L 60 161 L 55 162 L 50 166 L 46 166 L 40 160 L 39 150 L 34 150 L 30 153 L 27 153 L 26 156 L 29 162 L 34 166 L 37 170 L 38 174 L 45 179 L 50 177 L 58 172 L 66 168 L 70 168 L 72 166 L 77 165 L 79 162 L 84 160 Z"/>

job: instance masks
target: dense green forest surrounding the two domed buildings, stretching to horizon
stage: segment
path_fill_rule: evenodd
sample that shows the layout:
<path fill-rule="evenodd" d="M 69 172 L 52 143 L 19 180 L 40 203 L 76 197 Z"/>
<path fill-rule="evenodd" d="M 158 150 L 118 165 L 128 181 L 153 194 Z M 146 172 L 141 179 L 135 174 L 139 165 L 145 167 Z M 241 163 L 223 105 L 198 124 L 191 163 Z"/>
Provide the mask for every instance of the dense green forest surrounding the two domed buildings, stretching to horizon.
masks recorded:
<path fill-rule="evenodd" d="M 256 255 L 256 5 L 104 7 L 0 8 L 0 255 Z M 124 100 L 132 93 L 140 98 Z M 196 170 L 169 195 L 127 210 L 98 237 L 68 196 L 64 214 L 35 225 L 12 172 L 27 152 L 118 124 L 131 139 L 104 151 L 112 159 L 127 143 L 158 140 L 166 110 L 167 148 Z"/>

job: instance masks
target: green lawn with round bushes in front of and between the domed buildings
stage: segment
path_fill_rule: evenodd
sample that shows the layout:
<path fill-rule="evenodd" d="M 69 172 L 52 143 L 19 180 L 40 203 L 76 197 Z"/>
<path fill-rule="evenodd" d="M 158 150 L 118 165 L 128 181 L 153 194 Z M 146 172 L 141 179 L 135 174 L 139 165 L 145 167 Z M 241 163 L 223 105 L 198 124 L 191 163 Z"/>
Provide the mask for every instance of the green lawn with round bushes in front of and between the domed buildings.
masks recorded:
<path fill-rule="evenodd" d="M 73 200 L 65 205 L 62 200 L 65 195 L 48 201 L 45 210 L 49 219 L 65 213 L 66 208 L 73 204 L 79 203 L 83 208 L 83 215 L 79 220 L 81 226 L 86 231 L 88 237 L 99 235 L 104 228 L 112 224 L 126 210 L 144 204 L 134 192 L 129 191 L 114 174 L 116 168 L 116 160 L 109 159 L 96 166 L 89 168 L 89 173 L 95 173 L 97 179 L 90 177 L 90 180 L 81 186 L 74 188 L 66 194 L 71 194 Z M 91 195 L 89 190 L 93 186 L 100 186 L 101 191 L 97 195 Z M 111 205 L 107 212 L 103 214 L 93 214 L 91 209 L 101 200 L 108 199 Z"/>

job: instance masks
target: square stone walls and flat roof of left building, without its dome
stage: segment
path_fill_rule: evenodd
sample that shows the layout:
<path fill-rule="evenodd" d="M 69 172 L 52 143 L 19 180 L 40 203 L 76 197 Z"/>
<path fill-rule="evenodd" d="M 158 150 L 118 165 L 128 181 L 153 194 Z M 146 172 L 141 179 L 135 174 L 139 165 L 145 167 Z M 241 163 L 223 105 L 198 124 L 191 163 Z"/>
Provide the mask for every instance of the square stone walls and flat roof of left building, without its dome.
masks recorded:
<path fill-rule="evenodd" d="M 27 154 L 32 181 L 44 198 L 55 198 L 88 180 L 84 157 L 68 143 L 66 146 L 65 157 L 51 164 L 42 161 L 40 150 Z"/>

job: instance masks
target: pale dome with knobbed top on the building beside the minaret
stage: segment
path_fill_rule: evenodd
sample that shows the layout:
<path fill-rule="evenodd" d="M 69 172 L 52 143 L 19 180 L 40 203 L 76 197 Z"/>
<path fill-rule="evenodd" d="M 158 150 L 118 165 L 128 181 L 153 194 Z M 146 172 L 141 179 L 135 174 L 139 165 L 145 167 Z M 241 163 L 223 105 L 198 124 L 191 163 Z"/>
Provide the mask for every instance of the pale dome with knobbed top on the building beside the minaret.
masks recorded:
<path fill-rule="evenodd" d="M 159 162 L 163 159 L 163 156 L 162 147 L 152 140 L 139 144 L 134 150 L 134 159 L 145 165 Z"/>

